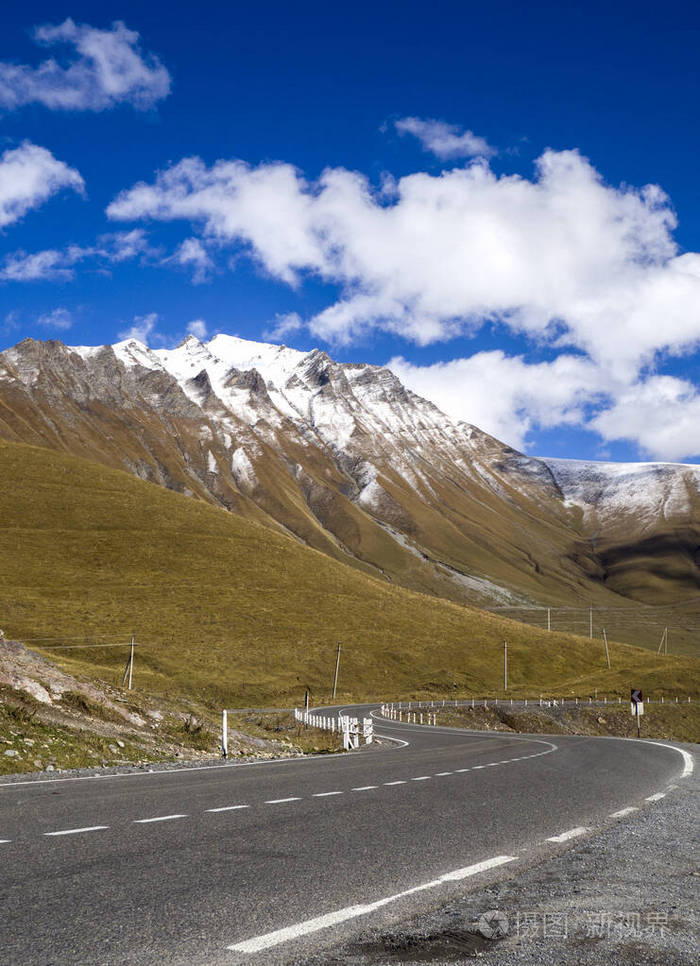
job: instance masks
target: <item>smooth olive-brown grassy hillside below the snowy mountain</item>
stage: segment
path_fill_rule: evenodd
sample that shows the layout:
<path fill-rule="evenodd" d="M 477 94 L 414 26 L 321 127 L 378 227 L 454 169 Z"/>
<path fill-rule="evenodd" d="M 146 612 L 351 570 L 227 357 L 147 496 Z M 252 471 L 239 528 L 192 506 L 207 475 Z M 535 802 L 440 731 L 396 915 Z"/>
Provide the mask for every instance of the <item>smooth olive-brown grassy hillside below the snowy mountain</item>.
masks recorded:
<path fill-rule="evenodd" d="M 643 681 L 698 692 L 698 662 L 527 625 L 359 573 L 225 510 L 118 470 L 0 443 L 0 627 L 70 671 L 114 681 L 124 646 L 58 650 L 42 638 L 140 647 L 135 685 L 211 705 L 512 693 Z"/>

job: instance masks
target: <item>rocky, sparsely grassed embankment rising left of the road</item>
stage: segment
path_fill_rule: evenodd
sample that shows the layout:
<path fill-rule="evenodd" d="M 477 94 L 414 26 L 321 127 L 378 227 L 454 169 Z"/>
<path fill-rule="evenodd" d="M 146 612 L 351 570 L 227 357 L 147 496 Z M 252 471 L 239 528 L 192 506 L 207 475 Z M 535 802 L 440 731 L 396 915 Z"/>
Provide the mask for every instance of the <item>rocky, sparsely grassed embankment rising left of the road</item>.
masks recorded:
<path fill-rule="evenodd" d="M 212 758 L 219 720 L 194 703 L 79 680 L 0 636 L 0 775 Z M 291 715 L 240 716 L 230 725 L 229 757 L 335 750 Z"/>

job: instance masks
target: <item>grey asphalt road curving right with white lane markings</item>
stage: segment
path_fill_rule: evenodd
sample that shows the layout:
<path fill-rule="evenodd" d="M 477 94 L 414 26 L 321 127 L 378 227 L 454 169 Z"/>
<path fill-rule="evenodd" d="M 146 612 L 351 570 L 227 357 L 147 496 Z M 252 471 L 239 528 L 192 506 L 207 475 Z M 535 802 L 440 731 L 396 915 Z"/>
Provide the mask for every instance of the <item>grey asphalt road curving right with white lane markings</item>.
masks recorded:
<path fill-rule="evenodd" d="M 427 908 L 653 807 L 689 768 L 651 742 L 377 731 L 395 741 L 0 780 L 0 966 L 303 961 L 372 917 Z"/>

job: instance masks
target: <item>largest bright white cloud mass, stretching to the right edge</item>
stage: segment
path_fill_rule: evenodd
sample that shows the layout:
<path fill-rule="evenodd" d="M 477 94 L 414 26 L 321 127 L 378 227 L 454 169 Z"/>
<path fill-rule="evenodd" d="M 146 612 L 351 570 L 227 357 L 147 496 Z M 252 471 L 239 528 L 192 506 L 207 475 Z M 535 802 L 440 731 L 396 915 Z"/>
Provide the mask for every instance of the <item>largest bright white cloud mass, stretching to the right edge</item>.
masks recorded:
<path fill-rule="evenodd" d="M 660 384 L 643 372 L 700 346 L 700 254 L 678 250 L 669 199 L 655 185 L 606 184 L 577 151 L 545 151 L 531 178 L 497 175 L 481 158 L 380 190 L 340 168 L 309 182 L 284 163 L 187 158 L 122 192 L 108 214 L 182 219 L 291 286 L 334 284 L 335 301 L 303 323 L 330 343 L 384 330 L 427 345 L 486 325 L 558 352 L 538 365 L 479 354 L 423 375 L 394 361 L 444 408 L 449 384 L 477 386 L 460 390 L 460 413 L 516 445 L 530 427 L 562 423 L 636 439 L 625 392 L 652 392 Z M 282 317 L 273 335 L 300 325 Z M 674 398 L 695 412 L 694 397 Z M 648 446 L 660 452 L 653 425 Z"/>

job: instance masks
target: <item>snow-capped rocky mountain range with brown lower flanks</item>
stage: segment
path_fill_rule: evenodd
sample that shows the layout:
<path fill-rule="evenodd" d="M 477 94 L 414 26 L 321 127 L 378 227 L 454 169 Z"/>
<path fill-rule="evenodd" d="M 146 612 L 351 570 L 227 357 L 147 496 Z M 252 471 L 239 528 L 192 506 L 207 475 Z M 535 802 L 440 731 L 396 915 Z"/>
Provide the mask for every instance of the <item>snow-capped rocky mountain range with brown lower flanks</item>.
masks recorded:
<path fill-rule="evenodd" d="M 700 467 L 527 457 L 388 369 L 319 350 L 25 340 L 0 353 L 0 437 L 127 469 L 455 600 L 700 589 Z M 665 571 L 653 587 L 650 554 Z"/>

